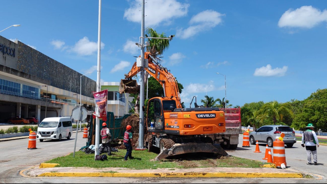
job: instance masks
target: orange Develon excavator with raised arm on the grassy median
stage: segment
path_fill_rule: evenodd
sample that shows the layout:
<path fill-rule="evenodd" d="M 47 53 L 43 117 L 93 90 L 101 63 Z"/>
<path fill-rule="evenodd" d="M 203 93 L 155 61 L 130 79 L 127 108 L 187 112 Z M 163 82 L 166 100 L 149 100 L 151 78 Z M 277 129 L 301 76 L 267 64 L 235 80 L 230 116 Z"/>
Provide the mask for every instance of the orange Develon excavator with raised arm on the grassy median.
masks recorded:
<path fill-rule="evenodd" d="M 146 71 L 162 86 L 164 97 L 154 97 L 148 101 L 146 127 L 152 135 L 148 141 L 149 151 L 156 147 L 160 154 L 155 160 L 184 153 L 218 153 L 227 156 L 219 144 L 213 144 L 207 134 L 224 133 L 226 131 L 225 114 L 219 108 L 203 107 L 197 104 L 195 108 L 182 108 L 178 84 L 167 68 L 164 68 L 149 52 L 145 52 L 148 61 Z M 120 93 L 136 93 L 139 86 L 132 77 L 140 72 L 137 62 L 132 66 L 125 80 L 121 80 Z M 191 102 L 191 103 L 192 103 Z"/>

